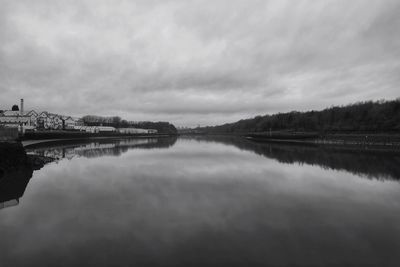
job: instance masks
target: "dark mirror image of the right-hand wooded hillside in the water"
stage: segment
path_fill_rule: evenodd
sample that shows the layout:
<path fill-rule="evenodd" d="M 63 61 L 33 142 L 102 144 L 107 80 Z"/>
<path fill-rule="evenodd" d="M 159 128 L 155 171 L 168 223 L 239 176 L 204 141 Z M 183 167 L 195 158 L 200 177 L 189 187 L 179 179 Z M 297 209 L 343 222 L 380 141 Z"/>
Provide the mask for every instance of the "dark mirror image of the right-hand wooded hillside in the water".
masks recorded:
<path fill-rule="evenodd" d="M 255 143 L 240 137 L 205 136 L 198 140 L 221 142 L 288 164 L 318 165 L 376 179 L 400 180 L 400 153 L 351 147 Z"/>

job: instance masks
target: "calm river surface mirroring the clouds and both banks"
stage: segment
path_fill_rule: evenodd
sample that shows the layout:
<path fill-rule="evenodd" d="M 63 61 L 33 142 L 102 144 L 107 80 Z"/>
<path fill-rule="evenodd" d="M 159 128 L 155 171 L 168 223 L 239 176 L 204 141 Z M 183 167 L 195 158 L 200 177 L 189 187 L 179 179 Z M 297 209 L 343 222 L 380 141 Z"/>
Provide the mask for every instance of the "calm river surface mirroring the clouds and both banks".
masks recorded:
<path fill-rule="evenodd" d="M 28 153 L 59 160 L 19 191 L 0 173 L 2 267 L 400 266 L 398 153 L 234 138 Z"/>

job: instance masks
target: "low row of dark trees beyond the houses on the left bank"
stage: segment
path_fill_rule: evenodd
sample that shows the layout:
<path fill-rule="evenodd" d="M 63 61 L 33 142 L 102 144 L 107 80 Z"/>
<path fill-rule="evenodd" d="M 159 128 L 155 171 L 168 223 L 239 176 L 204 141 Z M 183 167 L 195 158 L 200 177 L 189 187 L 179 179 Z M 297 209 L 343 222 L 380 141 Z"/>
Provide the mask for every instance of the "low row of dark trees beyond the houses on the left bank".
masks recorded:
<path fill-rule="evenodd" d="M 151 121 L 127 121 L 121 117 L 103 117 L 87 115 L 82 118 L 83 123 L 87 126 L 110 126 L 115 128 L 138 128 L 138 129 L 155 129 L 158 133 L 176 134 L 175 126 L 169 122 L 151 122 Z"/>

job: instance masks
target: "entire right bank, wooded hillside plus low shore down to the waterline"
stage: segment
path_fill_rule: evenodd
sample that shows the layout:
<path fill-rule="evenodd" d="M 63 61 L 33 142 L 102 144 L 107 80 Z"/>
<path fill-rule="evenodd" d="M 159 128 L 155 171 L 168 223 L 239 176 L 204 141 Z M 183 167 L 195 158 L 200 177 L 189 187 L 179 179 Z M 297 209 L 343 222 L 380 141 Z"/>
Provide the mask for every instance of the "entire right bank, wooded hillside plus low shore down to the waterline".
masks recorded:
<path fill-rule="evenodd" d="M 198 127 L 184 134 L 238 135 L 273 143 L 400 148 L 400 98 L 359 102 L 321 111 L 256 116 L 234 123 Z"/>

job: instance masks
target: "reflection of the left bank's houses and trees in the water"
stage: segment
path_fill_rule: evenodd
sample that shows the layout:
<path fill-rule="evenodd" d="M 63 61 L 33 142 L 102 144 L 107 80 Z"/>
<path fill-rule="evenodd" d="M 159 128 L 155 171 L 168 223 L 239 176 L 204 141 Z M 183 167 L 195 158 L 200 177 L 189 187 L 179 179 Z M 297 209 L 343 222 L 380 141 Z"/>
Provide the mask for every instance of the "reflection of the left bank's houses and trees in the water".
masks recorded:
<path fill-rule="evenodd" d="M 176 142 L 175 138 L 136 138 L 120 140 L 99 140 L 80 143 L 53 143 L 52 145 L 39 146 L 30 149 L 37 155 L 55 159 L 72 159 L 75 156 L 96 158 L 102 156 L 120 156 L 133 148 L 168 148 Z"/>

